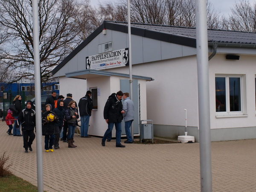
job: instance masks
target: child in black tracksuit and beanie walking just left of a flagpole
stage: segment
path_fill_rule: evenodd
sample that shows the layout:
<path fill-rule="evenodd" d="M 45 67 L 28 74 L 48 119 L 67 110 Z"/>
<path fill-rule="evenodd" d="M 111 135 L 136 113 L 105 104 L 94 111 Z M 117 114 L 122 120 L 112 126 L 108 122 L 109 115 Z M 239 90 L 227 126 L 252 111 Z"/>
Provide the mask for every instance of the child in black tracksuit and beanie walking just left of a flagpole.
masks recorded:
<path fill-rule="evenodd" d="M 26 108 L 20 112 L 17 119 L 19 125 L 21 125 L 25 153 L 28 153 L 28 148 L 29 151 L 32 151 L 31 145 L 35 139 L 35 111 L 31 108 L 32 105 L 32 101 L 27 101 Z"/>

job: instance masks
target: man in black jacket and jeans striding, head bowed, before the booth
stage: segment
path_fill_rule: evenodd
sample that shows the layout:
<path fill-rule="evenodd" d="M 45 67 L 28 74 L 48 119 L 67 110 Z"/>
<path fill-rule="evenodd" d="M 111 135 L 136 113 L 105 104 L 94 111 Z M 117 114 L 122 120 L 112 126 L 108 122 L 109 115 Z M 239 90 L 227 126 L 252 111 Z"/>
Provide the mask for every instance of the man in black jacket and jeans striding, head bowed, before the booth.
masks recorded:
<path fill-rule="evenodd" d="M 118 91 L 117 93 L 112 93 L 111 96 L 108 97 L 108 100 L 104 107 L 104 119 L 108 123 L 108 129 L 105 132 L 102 138 L 102 146 L 105 146 L 105 141 L 109 137 L 112 132 L 113 126 L 116 127 L 116 147 L 125 147 L 125 145 L 121 144 L 121 122 L 123 119 L 122 113 L 122 99 L 123 93 L 122 91 Z"/>

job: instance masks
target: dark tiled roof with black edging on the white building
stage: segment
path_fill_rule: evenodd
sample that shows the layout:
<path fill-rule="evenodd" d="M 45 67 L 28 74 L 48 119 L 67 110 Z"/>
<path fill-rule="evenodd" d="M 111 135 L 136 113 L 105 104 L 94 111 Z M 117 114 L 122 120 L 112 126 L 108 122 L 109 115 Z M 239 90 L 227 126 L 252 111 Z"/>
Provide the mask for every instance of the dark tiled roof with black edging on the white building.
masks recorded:
<path fill-rule="evenodd" d="M 76 49 L 73 50 L 57 67 L 52 70 L 55 74 L 71 58 L 73 58 L 81 49 L 93 40 L 103 29 L 109 29 L 128 33 L 128 23 L 119 21 L 104 21 L 86 40 L 84 40 Z M 146 38 L 156 39 L 169 43 L 196 47 L 196 29 L 195 27 L 166 26 L 145 23 L 131 23 L 131 34 Z M 256 48 L 256 33 L 230 31 L 221 29 L 208 29 L 208 43 L 217 43 L 225 47 L 243 47 Z"/>

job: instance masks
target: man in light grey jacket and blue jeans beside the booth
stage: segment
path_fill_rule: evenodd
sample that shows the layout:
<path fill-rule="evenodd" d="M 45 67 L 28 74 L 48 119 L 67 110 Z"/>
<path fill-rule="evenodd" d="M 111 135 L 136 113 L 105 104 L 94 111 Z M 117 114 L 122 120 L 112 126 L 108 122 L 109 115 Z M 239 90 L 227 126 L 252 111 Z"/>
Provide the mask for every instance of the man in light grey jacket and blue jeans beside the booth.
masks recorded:
<path fill-rule="evenodd" d="M 129 97 L 129 93 L 124 93 L 123 95 L 124 103 L 123 103 L 123 117 L 125 120 L 125 134 L 127 137 L 127 140 L 125 143 L 133 143 L 132 137 L 131 137 L 131 131 L 130 127 L 134 120 L 134 103 Z"/>

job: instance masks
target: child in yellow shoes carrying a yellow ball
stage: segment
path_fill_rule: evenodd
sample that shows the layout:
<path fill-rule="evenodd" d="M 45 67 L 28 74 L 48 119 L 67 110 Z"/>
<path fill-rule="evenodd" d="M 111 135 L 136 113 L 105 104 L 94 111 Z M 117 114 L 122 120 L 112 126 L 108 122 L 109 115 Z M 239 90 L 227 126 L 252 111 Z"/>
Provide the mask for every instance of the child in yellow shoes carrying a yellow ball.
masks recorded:
<path fill-rule="evenodd" d="M 58 121 L 57 115 L 52 112 L 52 106 L 50 104 L 45 105 L 46 112 L 42 114 L 42 134 L 44 135 L 44 149 L 46 152 L 53 152 L 52 145 L 54 142 L 55 133 L 55 122 Z M 54 115 L 54 120 L 47 120 L 47 115 L 52 113 Z"/>

